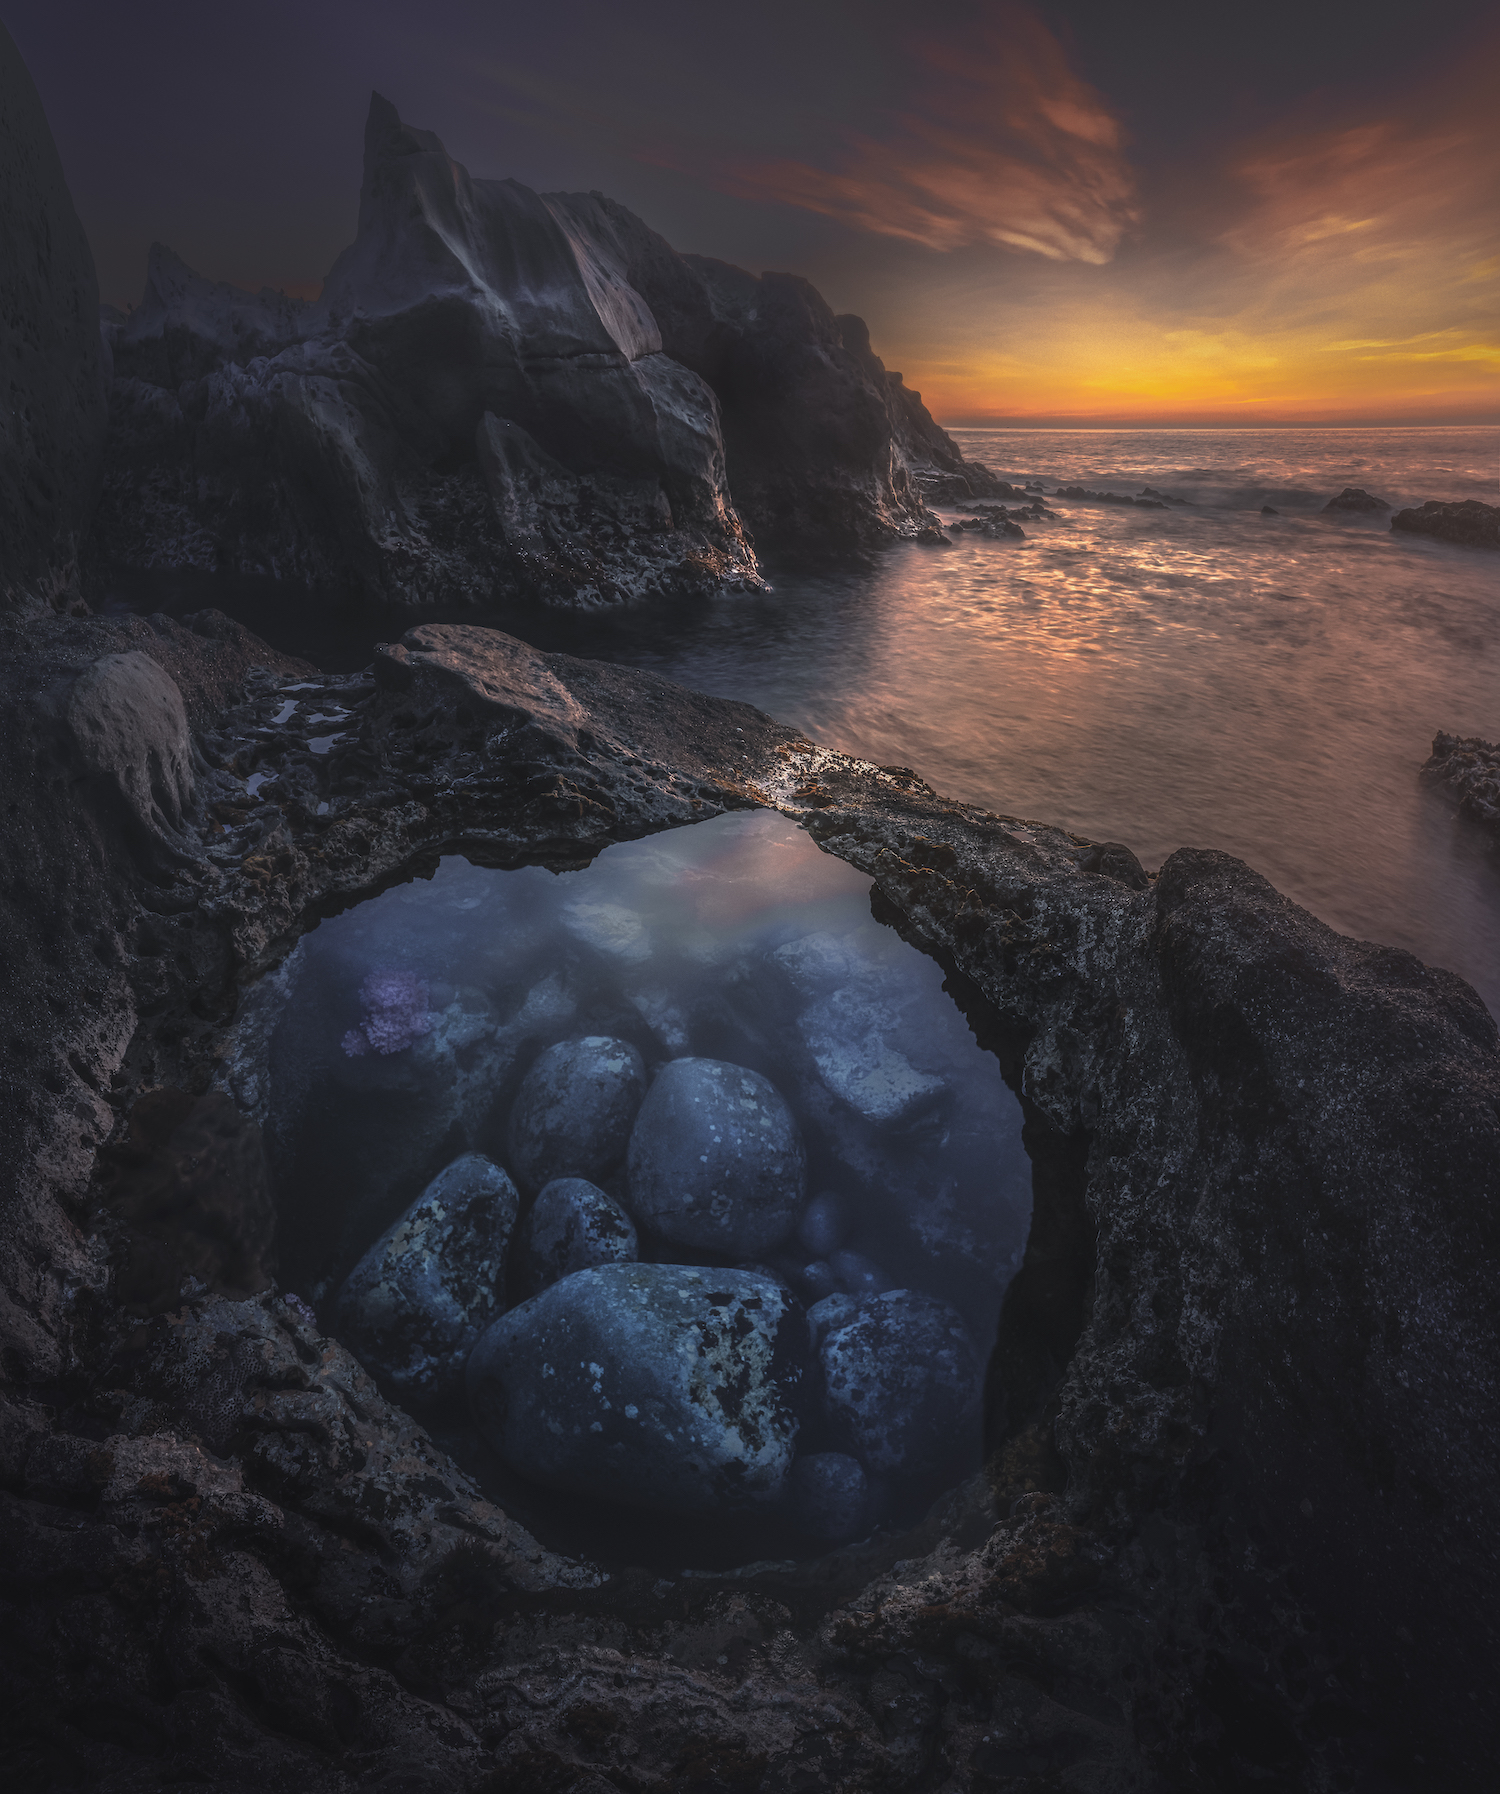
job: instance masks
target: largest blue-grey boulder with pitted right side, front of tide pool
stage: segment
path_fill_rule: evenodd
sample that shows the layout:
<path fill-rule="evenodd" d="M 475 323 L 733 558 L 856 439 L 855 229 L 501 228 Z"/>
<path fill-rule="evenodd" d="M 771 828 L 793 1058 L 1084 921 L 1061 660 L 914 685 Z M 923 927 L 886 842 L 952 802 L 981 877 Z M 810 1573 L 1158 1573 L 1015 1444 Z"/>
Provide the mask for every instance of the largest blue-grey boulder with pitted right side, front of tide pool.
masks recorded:
<path fill-rule="evenodd" d="M 597 1265 L 502 1315 L 468 1399 L 511 1469 L 664 1514 L 782 1494 L 806 1322 L 741 1270 Z"/>

